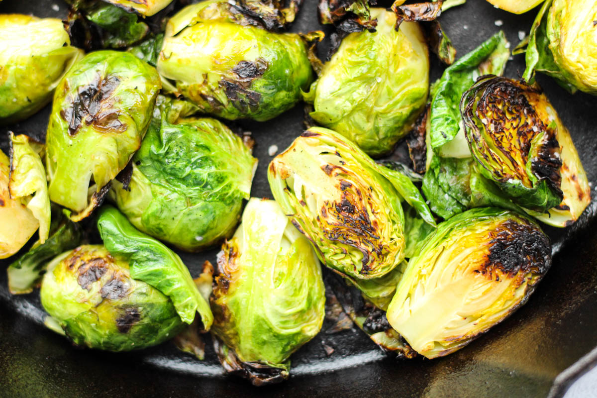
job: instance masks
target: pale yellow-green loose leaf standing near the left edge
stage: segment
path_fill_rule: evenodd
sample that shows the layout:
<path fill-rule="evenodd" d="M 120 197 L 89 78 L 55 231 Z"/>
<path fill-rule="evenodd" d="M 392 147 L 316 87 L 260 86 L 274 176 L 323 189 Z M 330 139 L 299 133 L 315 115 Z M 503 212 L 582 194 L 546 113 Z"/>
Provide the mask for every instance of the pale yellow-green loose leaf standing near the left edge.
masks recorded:
<path fill-rule="evenodd" d="M 44 243 L 50 233 L 50 198 L 44 163 L 39 152 L 42 144 L 35 143 L 27 135 L 10 132 L 10 181 L 8 189 L 13 199 L 27 204 L 33 217 L 39 221 L 39 241 Z M 33 195 L 33 196 L 32 196 Z M 31 197 L 32 196 L 32 197 Z"/>

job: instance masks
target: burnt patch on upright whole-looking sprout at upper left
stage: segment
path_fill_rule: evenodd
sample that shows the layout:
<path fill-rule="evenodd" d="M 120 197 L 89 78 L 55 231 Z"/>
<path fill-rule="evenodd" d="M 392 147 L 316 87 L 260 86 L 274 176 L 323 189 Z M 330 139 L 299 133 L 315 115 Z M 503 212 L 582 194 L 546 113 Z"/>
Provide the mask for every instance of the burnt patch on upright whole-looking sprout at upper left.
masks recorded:
<path fill-rule="evenodd" d="M 119 120 L 119 111 L 112 106 L 113 92 L 120 79 L 116 76 L 100 76 L 91 84 L 79 87 L 70 105 L 60 111 L 60 116 L 69 125 L 69 135 L 77 134 L 82 125 L 93 125 L 100 132 L 124 132 L 127 126 Z"/>

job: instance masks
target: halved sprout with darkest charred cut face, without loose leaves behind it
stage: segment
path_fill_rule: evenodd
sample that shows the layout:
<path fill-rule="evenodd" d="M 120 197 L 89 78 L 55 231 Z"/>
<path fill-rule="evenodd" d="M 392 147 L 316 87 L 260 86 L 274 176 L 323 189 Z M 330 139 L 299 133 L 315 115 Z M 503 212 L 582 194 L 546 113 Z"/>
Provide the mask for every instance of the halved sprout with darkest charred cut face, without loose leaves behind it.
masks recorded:
<path fill-rule="evenodd" d="M 541 89 L 488 76 L 462 100 L 464 134 L 481 174 L 547 224 L 576 221 L 589 205 L 589 182 L 570 132 Z M 536 213 L 552 208 L 553 220 Z"/>

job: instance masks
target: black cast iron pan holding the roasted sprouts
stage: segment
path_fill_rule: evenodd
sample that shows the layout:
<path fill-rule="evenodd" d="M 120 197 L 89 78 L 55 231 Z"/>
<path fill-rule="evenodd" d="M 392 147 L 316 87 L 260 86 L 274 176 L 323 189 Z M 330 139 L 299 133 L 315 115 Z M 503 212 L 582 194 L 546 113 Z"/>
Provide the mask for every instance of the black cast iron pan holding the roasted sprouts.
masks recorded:
<path fill-rule="evenodd" d="M 0 12 L 62 18 L 66 5 L 59 0 L 4 0 Z M 440 20 L 460 56 L 500 28 L 514 47 L 519 31 L 528 31 L 536 13 L 515 16 L 483 0 L 468 0 Z M 503 26 L 498 27 L 500 21 Z M 292 30 L 316 29 L 324 29 L 317 21 L 316 0 L 306 0 Z M 330 29 L 324 30 L 330 33 Z M 322 55 L 326 43 L 320 48 Z M 432 55 L 432 81 L 442 70 Z M 506 76 L 518 77 L 523 71 L 524 57 L 518 55 L 508 63 Z M 538 81 L 570 129 L 589 181 L 597 187 L 597 97 L 570 95 L 547 76 L 539 75 Z M 50 107 L 46 107 L 33 118 L 2 129 L 2 149 L 7 150 L 9 129 L 43 139 L 49 113 Z M 266 123 L 238 125 L 252 131 L 257 142 L 254 154 L 259 168 L 252 195 L 271 198 L 267 150 L 272 144 L 284 150 L 303 131 L 303 105 Z M 595 197 L 597 191 L 593 191 Z M 561 396 L 597 362 L 597 350 L 593 350 L 597 346 L 596 215 L 597 200 L 593 199 L 573 227 L 546 227 L 556 255 L 537 291 L 526 306 L 462 350 L 443 359 L 396 361 L 381 353 L 358 329 L 326 334 L 330 325 L 325 323 L 321 334 L 293 355 L 291 379 L 261 388 L 224 375 L 210 341 L 202 362 L 180 353 L 172 343 L 127 354 L 72 347 L 41 325 L 38 292 L 11 297 L 4 272 L 10 260 L 4 260 L 0 262 L 0 396 Z M 216 252 L 181 257 L 196 276 L 199 264 L 214 261 Z M 331 356 L 322 343 L 334 348 Z"/>

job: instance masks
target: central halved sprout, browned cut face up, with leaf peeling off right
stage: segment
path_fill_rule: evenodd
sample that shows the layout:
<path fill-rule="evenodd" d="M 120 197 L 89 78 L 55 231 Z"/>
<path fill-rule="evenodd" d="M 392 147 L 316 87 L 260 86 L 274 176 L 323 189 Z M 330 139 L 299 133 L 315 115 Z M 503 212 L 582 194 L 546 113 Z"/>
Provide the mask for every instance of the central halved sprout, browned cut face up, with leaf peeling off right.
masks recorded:
<path fill-rule="evenodd" d="M 353 279 L 384 276 L 404 259 L 401 200 L 435 226 L 408 177 L 325 128 L 310 128 L 294 140 L 270 163 L 267 179 L 319 259 Z"/>

